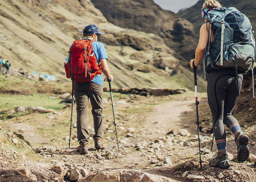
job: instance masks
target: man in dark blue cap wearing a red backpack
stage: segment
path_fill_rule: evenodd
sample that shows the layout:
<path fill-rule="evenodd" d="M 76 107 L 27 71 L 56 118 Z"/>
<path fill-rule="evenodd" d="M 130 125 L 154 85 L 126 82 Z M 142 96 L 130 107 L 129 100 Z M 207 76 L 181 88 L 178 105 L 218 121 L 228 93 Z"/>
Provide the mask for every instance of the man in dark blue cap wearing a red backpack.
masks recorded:
<path fill-rule="evenodd" d="M 94 146 L 96 149 L 102 149 L 103 78 L 101 73 L 103 72 L 108 82 L 113 80 L 107 64 L 108 56 L 106 54 L 105 47 L 101 42 L 97 41 L 97 36 L 103 34 L 104 33 L 98 31 L 98 27 L 96 25 L 88 25 L 83 30 L 83 38 L 74 41 L 69 50 L 68 62 L 72 65 L 71 74 L 77 74 L 76 76 L 73 76 L 77 112 L 77 136 L 79 141 L 79 146 L 76 150 L 80 154 L 86 154 L 88 152 L 87 146 L 89 143 L 88 139 L 90 137 L 90 133 L 87 128 L 87 110 L 89 98 L 92 106 L 91 112 L 93 114 L 94 121 Z M 79 59 L 82 60 L 82 63 L 79 63 Z M 91 60 L 94 60 L 96 65 L 92 65 Z M 81 64 L 84 65 L 83 68 L 81 68 Z M 85 68 L 87 69 L 88 66 L 91 68 L 88 71 L 85 71 L 85 73 L 83 72 L 81 75 L 79 75 L 78 70 L 84 70 Z M 72 69 L 72 67 L 76 68 Z M 92 73 L 94 73 L 95 76 Z M 89 75 L 90 78 L 87 79 L 84 75 L 87 77 Z M 93 80 L 91 80 L 91 76 L 94 76 Z M 70 75 L 70 77 L 72 78 L 72 75 Z"/>

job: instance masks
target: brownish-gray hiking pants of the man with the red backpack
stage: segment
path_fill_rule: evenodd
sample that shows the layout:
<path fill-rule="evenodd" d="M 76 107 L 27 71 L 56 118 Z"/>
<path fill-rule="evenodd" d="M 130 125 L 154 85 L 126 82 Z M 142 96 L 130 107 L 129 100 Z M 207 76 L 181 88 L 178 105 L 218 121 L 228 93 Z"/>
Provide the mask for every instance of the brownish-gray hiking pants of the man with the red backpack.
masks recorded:
<path fill-rule="evenodd" d="M 87 129 L 87 109 L 89 98 L 92 107 L 93 122 L 94 122 L 94 137 L 102 138 L 102 95 L 103 86 L 91 82 L 92 90 L 90 90 L 90 82 L 76 83 L 74 82 L 74 95 L 76 99 L 77 112 L 77 138 L 79 142 L 88 143 L 90 133 Z"/>

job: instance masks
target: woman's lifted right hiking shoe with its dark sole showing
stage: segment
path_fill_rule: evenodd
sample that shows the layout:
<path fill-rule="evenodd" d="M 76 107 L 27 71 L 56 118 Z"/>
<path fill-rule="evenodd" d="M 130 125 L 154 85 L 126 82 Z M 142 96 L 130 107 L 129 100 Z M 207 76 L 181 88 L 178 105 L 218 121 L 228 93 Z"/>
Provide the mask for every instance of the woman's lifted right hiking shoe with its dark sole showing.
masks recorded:
<path fill-rule="evenodd" d="M 248 148 L 249 138 L 242 133 L 238 133 L 235 137 L 235 145 L 237 145 L 237 161 L 244 162 L 247 161 L 250 155 Z"/>

